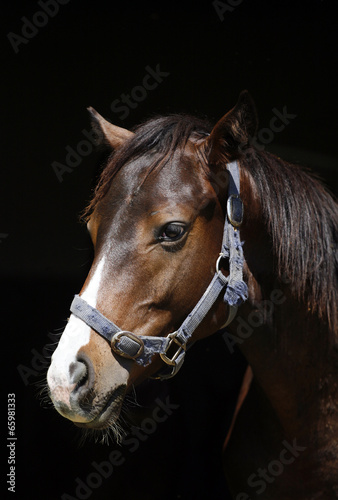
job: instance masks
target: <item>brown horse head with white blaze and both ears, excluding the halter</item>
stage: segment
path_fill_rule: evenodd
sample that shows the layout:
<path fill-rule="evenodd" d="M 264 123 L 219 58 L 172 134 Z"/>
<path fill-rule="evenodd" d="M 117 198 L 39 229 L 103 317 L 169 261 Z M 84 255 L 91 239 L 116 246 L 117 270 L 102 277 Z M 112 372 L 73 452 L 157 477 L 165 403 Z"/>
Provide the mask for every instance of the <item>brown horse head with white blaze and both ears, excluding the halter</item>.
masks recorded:
<path fill-rule="evenodd" d="M 113 154 L 87 210 L 95 254 L 80 298 L 87 316 L 98 311 L 132 332 L 127 341 L 167 338 L 215 274 L 226 218 L 226 164 L 255 134 L 253 103 L 242 93 L 211 132 L 200 120 L 173 115 L 133 133 L 90 112 Z M 228 260 L 222 259 L 224 276 Z M 229 304 L 219 296 L 190 341 L 215 333 L 228 316 Z M 144 363 L 130 358 L 72 313 L 48 371 L 57 411 L 80 427 L 114 426 L 133 384 L 163 366 L 156 354 Z"/>

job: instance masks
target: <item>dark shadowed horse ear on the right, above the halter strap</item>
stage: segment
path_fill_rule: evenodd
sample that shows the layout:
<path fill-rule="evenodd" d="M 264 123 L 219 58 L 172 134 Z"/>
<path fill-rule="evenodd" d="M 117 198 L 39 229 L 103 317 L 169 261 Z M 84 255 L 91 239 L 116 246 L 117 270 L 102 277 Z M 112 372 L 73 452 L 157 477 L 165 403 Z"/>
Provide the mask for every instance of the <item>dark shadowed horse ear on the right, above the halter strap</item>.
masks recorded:
<path fill-rule="evenodd" d="M 217 165 L 235 160 L 255 137 L 258 119 L 255 104 L 247 90 L 238 102 L 221 118 L 206 141 L 209 164 Z"/>

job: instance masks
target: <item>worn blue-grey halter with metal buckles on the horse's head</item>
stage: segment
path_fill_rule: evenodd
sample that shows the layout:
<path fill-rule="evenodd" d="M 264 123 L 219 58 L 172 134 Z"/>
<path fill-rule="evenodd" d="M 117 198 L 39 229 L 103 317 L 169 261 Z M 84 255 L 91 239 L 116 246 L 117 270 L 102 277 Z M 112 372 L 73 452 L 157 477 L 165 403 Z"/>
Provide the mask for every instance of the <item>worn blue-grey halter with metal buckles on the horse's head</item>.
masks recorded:
<path fill-rule="evenodd" d="M 229 171 L 227 215 L 222 249 L 216 262 L 216 272 L 203 296 L 178 330 L 169 333 L 167 337 L 135 335 L 121 330 L 79 295 L 75 295 L 70 306 L 71 312 L 105 338 L 116 354 L 133 359 L 143 366 L 151 362 L 154 354 L 159 354 L 170 367 L 169 373 L 161 373 L 157 377 L 160 379 L 173 377 L 181 368 L 189 339 L 225 287 L 224 301 L 229 305 L 229 316 L 222 328 L 231 323 L 236 316 L 238 306 L 248 297 L 247 285 L 243 281 L 243 249 L 237 230 L 243 221 L 237 162 L 229 163 L 227 170 Z M 229 259 L 229 276 L 227 277 L 220 269 L 221 260 L 224 258 Z"/>

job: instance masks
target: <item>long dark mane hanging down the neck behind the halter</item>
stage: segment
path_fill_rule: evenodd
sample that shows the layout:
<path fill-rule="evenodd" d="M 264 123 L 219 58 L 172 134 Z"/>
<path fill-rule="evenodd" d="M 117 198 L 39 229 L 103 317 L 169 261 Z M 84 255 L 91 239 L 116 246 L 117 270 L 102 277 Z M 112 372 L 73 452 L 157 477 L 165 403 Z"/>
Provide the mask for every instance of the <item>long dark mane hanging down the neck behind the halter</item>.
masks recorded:
<path fill-rule="evenodd" d="M 303 167 L 250 148 L 243 159 L 260 195 L 275 272 L 337 333 L 337 203 Z"/>

